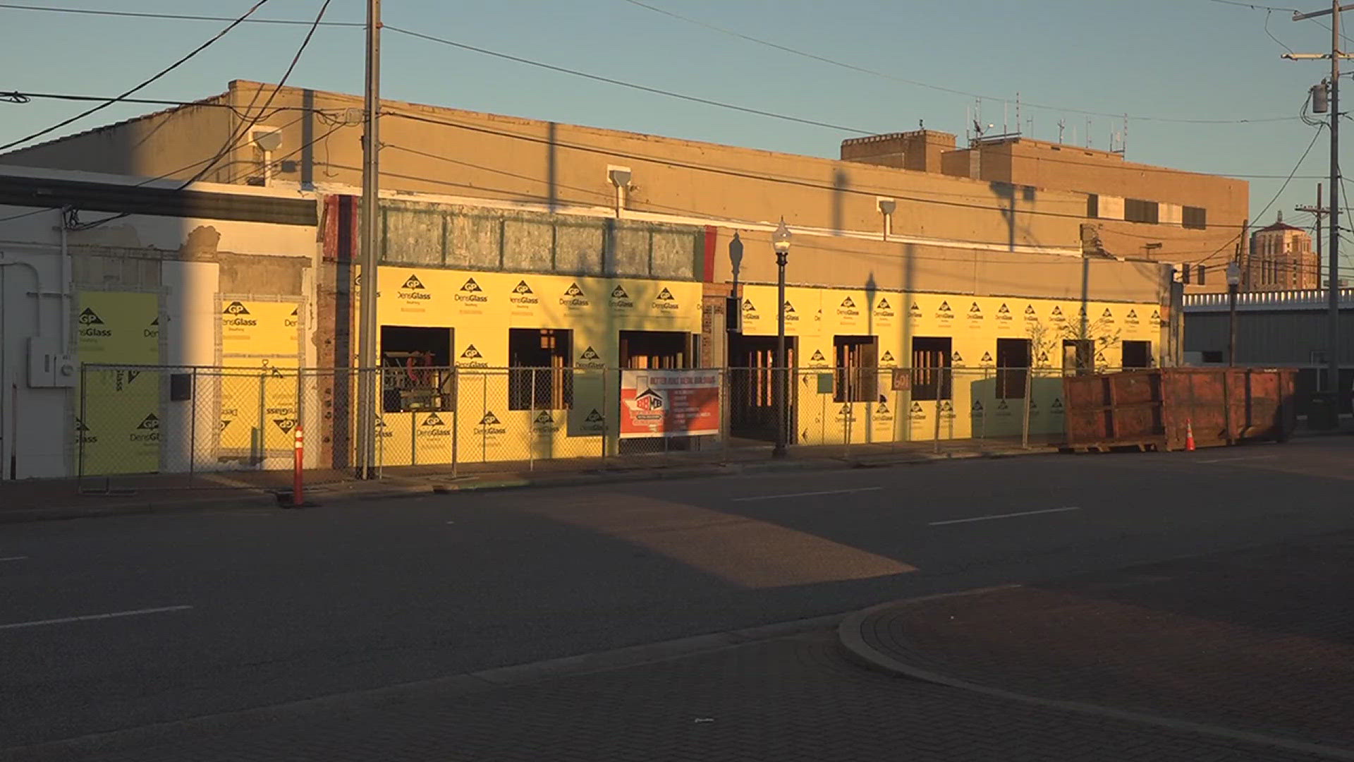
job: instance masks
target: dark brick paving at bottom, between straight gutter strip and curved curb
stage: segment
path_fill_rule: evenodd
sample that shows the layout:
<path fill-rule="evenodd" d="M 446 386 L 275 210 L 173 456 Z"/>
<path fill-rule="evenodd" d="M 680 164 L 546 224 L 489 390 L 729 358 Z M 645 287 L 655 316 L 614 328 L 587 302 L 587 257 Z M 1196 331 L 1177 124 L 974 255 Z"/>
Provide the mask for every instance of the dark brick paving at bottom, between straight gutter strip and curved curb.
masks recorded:
<path fill-rule="evenodd" d="M 883 675 L 848 662 L 830 630 L 516 687 L 431 691 L 406 697 L 398 705 L 341 715 L 301 716 L 265 728 L 165 739 L 154 746 L 103 750 L 85 758 L 121 762 L 1319 759 Z"/>

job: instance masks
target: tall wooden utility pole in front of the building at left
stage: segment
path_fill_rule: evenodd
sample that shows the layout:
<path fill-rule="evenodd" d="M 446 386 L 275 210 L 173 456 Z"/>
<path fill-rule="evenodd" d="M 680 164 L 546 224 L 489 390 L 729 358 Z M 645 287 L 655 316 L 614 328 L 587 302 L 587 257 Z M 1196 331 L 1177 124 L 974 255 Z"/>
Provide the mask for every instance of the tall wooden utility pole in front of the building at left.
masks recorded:
<path fill-rule="evenodd" d="M 367 0 L 367 87 L 362 133 L 362 293 L 357 313 L 357 476 L 376 475 L 376 263 L 380 194 L 380 0 Z"/>

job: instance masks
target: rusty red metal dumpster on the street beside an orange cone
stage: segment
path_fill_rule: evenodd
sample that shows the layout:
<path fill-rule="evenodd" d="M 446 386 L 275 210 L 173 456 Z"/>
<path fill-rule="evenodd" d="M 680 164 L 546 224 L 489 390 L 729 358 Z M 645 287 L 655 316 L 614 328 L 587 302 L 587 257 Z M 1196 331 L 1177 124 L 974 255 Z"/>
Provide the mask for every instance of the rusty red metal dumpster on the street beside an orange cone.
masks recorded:
<path fill-rule="evenodd" d="M 1183 450 L 1285 441 L 1297 426 L 1289 367 L 1152 367 L 1063 378 L 1067 446 Z"/>

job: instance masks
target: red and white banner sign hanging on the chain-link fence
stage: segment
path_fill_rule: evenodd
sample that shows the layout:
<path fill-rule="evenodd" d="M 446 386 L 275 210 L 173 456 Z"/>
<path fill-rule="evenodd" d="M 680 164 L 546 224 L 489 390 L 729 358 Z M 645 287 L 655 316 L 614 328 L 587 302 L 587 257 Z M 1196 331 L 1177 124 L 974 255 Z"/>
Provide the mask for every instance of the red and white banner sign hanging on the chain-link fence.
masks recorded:
<path fill-rule="evenodd" d="M 715 370 L 621 370 L 620 438 L 719 434 Z"/>

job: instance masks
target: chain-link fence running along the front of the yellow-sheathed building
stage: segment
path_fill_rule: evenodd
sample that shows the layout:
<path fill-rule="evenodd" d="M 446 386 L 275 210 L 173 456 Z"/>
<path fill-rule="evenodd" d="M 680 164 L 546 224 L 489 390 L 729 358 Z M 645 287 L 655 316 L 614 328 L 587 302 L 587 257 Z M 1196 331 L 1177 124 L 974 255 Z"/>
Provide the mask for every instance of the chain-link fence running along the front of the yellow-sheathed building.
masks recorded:
<path fill-rule="evenodd" d="M 271 473 L 284 485 L 299 431 L 307 483 L 348 479 L 363 378 L 376 388 L 380 473 L 756 460 L 781 431 L 787 446 L 831 456 L 1047 443 L 1063 431 L 1062 373 L 1049 369 L 85 365 L 76 473 L 215 487 Z"/>

